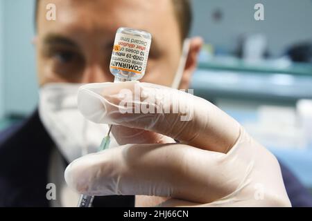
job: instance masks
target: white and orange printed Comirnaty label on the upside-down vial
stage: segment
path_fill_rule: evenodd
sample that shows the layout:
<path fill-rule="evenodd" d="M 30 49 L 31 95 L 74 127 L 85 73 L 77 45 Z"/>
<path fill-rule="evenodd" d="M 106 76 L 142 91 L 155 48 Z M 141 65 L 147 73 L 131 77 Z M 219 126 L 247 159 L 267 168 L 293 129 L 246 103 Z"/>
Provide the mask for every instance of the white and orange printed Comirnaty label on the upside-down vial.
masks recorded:
<path fill-rule="evenodd" d="M 150 42 L 150 39 L 117 33 L 110 68 L 144 75 Z"/>

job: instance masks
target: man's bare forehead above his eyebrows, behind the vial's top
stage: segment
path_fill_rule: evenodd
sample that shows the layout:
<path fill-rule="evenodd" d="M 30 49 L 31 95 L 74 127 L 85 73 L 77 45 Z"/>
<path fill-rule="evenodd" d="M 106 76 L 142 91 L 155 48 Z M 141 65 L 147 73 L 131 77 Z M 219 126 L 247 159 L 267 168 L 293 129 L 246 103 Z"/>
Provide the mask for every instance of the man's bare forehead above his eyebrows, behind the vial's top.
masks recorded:
<path fill-rule="evenodd" d="M 46 6 L 56 6 L 56 21 L 46 19 Z M 171 0 L 41 0 L 38 32 L 111 32 L 125 26 L 151 32 L 175 34 L 177 21 Z"/>

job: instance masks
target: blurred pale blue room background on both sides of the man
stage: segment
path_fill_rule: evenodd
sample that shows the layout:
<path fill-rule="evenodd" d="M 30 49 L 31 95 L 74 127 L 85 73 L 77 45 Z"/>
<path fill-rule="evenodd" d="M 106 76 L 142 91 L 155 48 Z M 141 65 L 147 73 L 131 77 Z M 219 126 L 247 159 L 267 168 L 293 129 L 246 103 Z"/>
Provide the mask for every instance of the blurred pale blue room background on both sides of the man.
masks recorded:
<path fill-rule="evenodd" d="M 264 21 L 254 19 L 263 3 Z M 0 131 L 37 105 L 33 0 L 0 0 Z M 237 119 L 312 190 L 312 1 L 193 0 L 194 93 Z"/>

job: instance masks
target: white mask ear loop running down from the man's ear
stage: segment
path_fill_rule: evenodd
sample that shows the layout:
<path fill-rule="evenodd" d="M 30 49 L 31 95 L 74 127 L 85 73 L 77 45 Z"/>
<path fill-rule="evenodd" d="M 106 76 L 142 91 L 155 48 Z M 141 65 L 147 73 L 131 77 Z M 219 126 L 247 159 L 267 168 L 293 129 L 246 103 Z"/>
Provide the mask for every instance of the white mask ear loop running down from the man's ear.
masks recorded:
<path fill-rule="evenodd" d="M 181 83 L 181 79 L 184 73 L 185 64 L 187 64 L 187 57 L 189 55 L 190 39 L 184 39 L 182 47 L 182 55 L 180 58 L 179 66 L 177 67 L 177 72 L 175 73 L 175 79 L 171 84 L 171 88 L 178 89 Z"/>

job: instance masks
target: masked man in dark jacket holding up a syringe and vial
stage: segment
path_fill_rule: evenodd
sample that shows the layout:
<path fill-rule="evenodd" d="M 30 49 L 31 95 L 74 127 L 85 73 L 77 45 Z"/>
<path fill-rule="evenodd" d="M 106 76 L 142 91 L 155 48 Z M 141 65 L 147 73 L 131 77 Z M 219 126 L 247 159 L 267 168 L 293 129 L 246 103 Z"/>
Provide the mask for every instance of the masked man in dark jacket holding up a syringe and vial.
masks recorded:
<path fill-rule="evenodd" d="M 187 60 L 181 62 L 191 23 L 188 1 L 37 3 L 39 114 L 36 111 L 24 124 L 1 136 L 0 205 L 75 206 L 78 195 L 67 188 L 64 169 L 67 162 L 94 151 L 90 149 L 103 137 L 95 134 L 103 128 L 83 121 L 74 101 L 78 84 L 113 80 L 109 63 L 116 29 L 125 26 L 153 35 L 141 81 L 153 83 L 164 94 L 175 90 L 157 85 L 172 86 L 179 66 L 184 66 L 179 88 L 189 86 L 202 40 L 189 41 Z M 46 20 L 48 3 L 57 8 L 56 21 Z M 101 96 L 107 104 L 115 104 L 114 95 L 134 86 L 148 90 L 150 84 L 103 84 Z M 128 119 L 119 121 L 119 126 L 113 126 L 117 142 L 137 145 L 119 146 L 73 162 L 65 173 L 69 186 L 80 193 L 113 195 L 96 197 L 94 206 L 289 206 L 275 157 L 209 102 L 177 93 L 179 100 L 189 98 L 195 101 L 194 119 L 187 123 L 176 120 L 180 115 L 170 114 L 161 123 L 161 117 L 155 120 L 154 115 L 151 121 L 146 115 L 132 124 L 126 123 Z M 91 99 L 83 104 L 88 106 Z M 206 111 L 199 113 L 200 109 Z M 116 118 L 103 123 L 109 121 L 116 123 Z M 173 144 L 173 138 L 183 144 Z M 307 193 L 290 176 L 284 180 L 286 189 L 296 186 L 288 192 L 293 205 L 309 205 Z M 56 199 L 48 194 L 49 183 L 56 186 Z M 255 189 L 260 190 L 259 197 Z"/>

